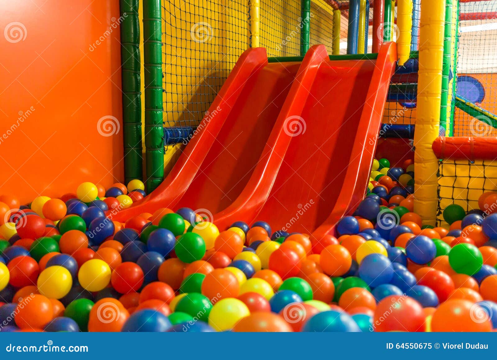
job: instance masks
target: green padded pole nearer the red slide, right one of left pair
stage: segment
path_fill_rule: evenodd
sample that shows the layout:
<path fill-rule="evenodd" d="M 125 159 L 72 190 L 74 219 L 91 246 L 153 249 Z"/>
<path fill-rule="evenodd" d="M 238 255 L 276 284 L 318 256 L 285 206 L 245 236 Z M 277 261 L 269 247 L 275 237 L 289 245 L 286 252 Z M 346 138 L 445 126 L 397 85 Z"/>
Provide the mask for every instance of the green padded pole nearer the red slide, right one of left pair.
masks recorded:
<path fill-rule="evenodd" d="M 145 70 L 145 183 L 150 193 L 164 180 L 164 126 L 162 120 L 161 0 L 143 0 Z"/>

